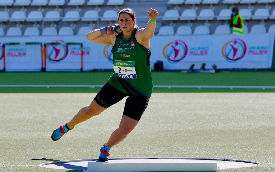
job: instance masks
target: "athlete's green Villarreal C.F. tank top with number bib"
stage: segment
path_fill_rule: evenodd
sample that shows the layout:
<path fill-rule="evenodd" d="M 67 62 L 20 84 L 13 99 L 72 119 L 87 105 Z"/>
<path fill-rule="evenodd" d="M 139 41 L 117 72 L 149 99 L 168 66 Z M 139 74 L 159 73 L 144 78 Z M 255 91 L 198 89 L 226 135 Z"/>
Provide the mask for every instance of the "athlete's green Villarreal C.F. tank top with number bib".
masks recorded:
<path fill-rule="evenodd" d="M 153 90 L 151 51 L 136 40 L 138 30 L 136 28 L 128 39 L 116 36 L 112 48 L 114 72 L 107 82 L 123 93 L 150 97 Z"/>

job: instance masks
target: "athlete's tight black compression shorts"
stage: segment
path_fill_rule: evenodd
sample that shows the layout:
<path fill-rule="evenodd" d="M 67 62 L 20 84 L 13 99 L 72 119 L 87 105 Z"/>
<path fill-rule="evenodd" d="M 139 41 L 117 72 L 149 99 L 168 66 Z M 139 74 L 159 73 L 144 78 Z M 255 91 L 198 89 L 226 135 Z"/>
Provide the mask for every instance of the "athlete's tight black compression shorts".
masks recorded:
<path fill-rule="evenodd" d="M 100 106 L 108 108 L 113 104 L 116 104 L 126 96 L 128 96 L 128 98 L 125 102 L 123 114 L 139 121 L 141 115 L 147 108 L 150 97 L 134 96 L 123 93 L 114 88 L 113 86 L 111 86 L 108 82 L 106 82 L 105 85 L 101 88 L 101 90 L 97 93 L 94 100 Z"/>

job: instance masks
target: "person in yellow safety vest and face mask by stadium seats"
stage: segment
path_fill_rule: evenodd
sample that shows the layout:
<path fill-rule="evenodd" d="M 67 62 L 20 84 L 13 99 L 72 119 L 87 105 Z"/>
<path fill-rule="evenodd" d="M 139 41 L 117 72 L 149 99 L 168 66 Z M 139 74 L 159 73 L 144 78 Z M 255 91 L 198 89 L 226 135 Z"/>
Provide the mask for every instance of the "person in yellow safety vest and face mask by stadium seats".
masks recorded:
<path fill-rule="evenodd" d="M 232 27 L 233 34 L 244 34 L 244 20 L 243 17 L 239 14 L 239 8 L 236 6 L 232 8 L 229 24 L 230 27 Z"/>

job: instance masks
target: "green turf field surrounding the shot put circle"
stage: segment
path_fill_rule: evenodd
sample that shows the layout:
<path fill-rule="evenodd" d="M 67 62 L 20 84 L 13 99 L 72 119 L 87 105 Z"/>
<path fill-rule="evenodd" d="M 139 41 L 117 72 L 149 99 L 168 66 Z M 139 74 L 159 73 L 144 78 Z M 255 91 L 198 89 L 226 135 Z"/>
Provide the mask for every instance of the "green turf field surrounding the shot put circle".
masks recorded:
<path fill-rule="evenodd" d="M 104 84 L 110 72 L 0 73 L 0 85 Z M 182 74 L 153 72 L 156 85 L 275 86 L 273 72 Z M 0 171 L 61 172 L 39 164 L 93 159 L 123 112 L 123 99 L 52 141 L 98 88 L 0 88 Z M 148 108 L 110 158 L 188 157 L 260 162 L 225 172 L 275 171 L 274 89 L 154 89 Z M 105 125 L 107 124 L 107 125 Z M 46 160 L 31 160 L 43 157 Z M 73 170 L 70 170 L 73 171 Z"/>

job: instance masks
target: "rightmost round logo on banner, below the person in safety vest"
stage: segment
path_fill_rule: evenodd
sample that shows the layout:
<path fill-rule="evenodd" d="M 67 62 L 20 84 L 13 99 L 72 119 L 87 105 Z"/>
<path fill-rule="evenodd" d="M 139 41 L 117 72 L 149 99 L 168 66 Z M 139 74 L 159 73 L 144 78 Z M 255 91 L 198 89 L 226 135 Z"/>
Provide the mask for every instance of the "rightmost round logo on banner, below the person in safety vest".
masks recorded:
<path fill-rule="evenodd" d="M 222 56 L 229 62 L 236 62 L 244 57 L 246 44 L 241 39 L 232 39 L 222 47 Z"/>

